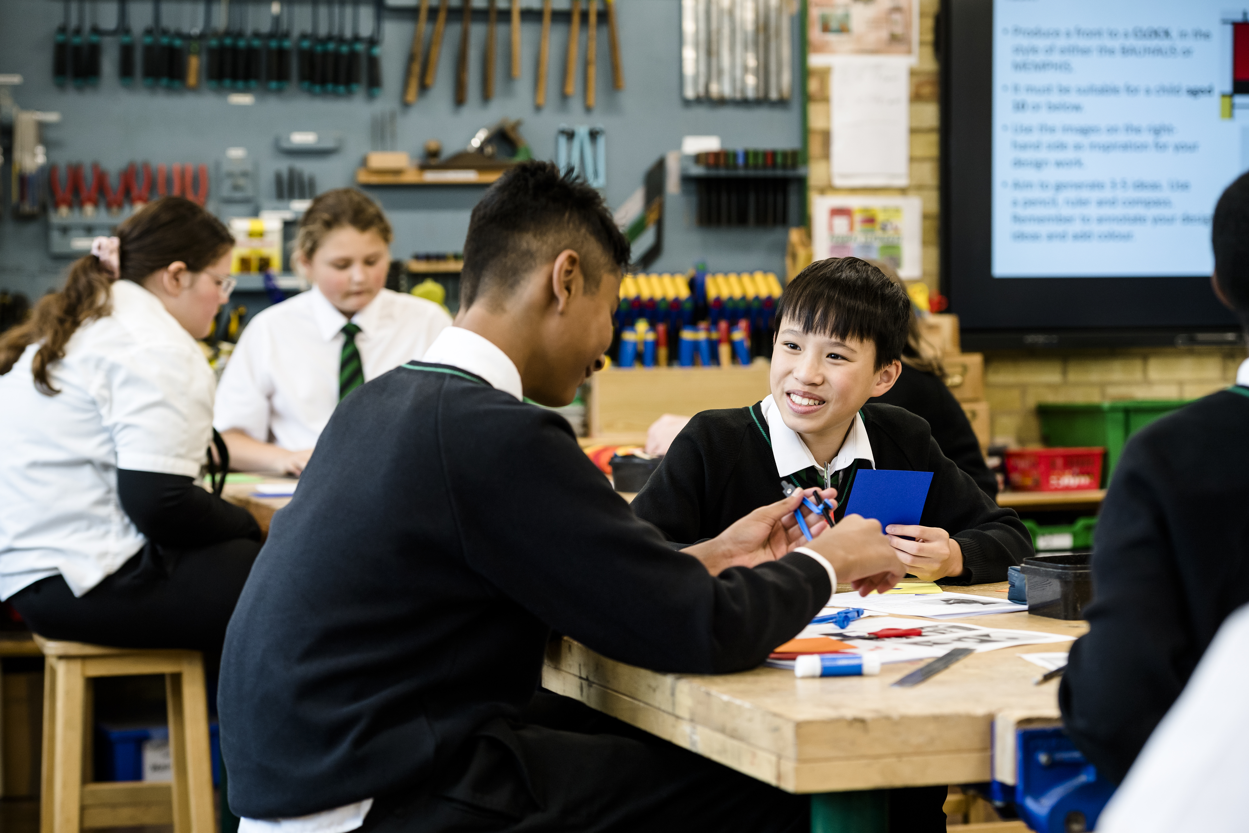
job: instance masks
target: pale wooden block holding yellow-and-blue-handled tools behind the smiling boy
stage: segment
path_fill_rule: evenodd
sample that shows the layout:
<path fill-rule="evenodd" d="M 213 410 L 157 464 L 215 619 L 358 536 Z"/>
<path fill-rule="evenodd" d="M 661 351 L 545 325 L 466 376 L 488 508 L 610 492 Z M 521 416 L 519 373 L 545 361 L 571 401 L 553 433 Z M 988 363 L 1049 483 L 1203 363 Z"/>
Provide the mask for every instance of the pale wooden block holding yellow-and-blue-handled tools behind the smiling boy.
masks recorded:
<path fill-rule="evenodd" d="M 644 433 L 664 413 L 738 408 L 768 395 L 768 363 L 608 368 L 591 381 L 590 436 Z"/>

